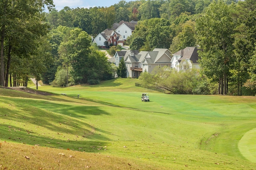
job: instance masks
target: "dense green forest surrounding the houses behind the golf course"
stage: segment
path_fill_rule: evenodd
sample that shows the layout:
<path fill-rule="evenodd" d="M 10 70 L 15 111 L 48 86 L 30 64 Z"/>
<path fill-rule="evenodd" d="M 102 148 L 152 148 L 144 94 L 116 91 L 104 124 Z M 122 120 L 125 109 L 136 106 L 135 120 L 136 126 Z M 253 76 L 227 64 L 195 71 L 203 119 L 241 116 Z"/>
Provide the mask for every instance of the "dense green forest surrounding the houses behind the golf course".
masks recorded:
<path fill-rule="evenodd" d="M 255 0 L 121 0 L 110 7 L 60 11 L 52 0 L 0 5 L 0 86 L 26 85 L 29 77 L 56 86 L 111 79 L 116 68 L 92 37 L 134 20 L 138 25 L 126 41 L 130 49 L 203 49 L 197 90 L 182 93 L 256 94 Z"/>

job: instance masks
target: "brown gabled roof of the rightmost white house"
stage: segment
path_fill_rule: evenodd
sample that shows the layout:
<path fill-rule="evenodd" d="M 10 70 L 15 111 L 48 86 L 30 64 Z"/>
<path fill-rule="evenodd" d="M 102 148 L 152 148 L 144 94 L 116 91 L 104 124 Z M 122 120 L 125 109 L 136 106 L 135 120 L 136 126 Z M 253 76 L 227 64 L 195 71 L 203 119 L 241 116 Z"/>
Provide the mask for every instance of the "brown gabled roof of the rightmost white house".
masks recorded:
<path fill-rule="evenodd" d="M 193 63 L 198 63 L 198 53 L 197 53 L 198 50 L 200 50 L 200 49 L 197 49 L 197 47 L 186 47 L 186 48 L 174 53 L 173 55 L 182 56 L 178 60 L 179 63 L 185 59 L 190 59 Z"/>

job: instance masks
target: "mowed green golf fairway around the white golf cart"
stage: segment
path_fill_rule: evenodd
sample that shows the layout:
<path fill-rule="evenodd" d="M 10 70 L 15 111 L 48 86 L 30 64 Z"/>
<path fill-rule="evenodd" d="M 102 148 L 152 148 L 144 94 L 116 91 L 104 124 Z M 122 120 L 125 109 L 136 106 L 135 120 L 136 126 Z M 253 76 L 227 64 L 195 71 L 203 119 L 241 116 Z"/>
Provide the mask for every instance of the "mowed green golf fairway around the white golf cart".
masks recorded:
<path fill-rule="evenodd" d="M 0 89 L 0 143 L 100 154 L 129 169 L 255 169 L 255 97 L 162 94 L 137 81 L 39 87 L 66 96 Z"/>

